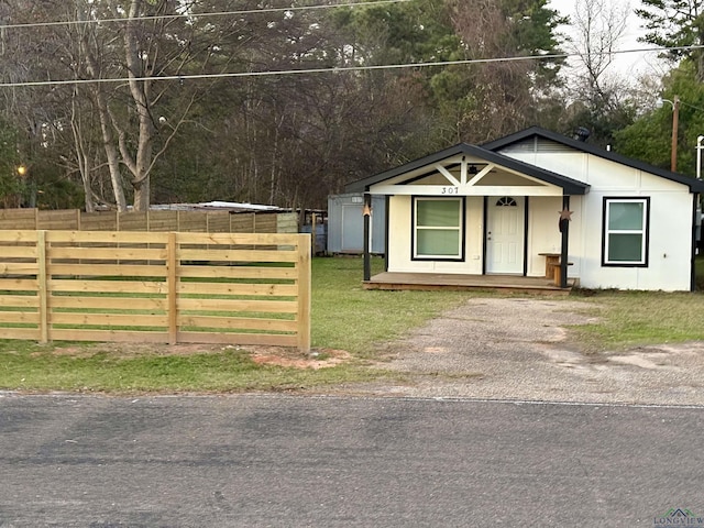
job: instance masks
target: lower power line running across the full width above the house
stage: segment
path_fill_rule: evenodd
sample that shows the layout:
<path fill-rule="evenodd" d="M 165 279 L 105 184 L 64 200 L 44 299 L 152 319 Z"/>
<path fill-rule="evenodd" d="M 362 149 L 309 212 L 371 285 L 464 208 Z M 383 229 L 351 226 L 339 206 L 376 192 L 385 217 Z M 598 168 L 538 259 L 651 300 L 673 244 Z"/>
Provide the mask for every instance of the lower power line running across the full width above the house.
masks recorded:
<path fill-rule="evenodd" d="M 626 53 L 663 53 L 673 51 L 692 51 L 704 48 L 704 45 L 696 46 L 678 46 L 678 47 L 645 47 L 636 50 L 622 50 L 616 52 L 604 52 L 595 55 L 618 55 Z M 65 80 L 30 80 L 20 82 L 0 82 L 0 88 L 21 88 L 21 87 L 41 87 L 41 86 L 65 86 L 65 85 L 91 85 L 91 84 L 111 84 L 127 82 L 129 80 L 147 81 L 147 80 L 201 80 L 218 78 L 237 78 L 237 77 L 271 77 L 285 75 L 306 75 L 306 74 L 338 74 L 349 72 L 369 72 L 380 69 L 405 69 L 405 68 L 427 68 L 431 66 L 463 66 L 472 64 L 492 64 L 492 63 L 512 63 L 524 61 L 557 61 L 579 57 L 579 53 L 559 53 L 552 55 L 527 55 L 518 57 L 499 57 L 499 58 L 470 58 L 463 61 L 438 61 L 428 63 L 405 63 L 405 64 L 383 64 L 371 66 L 346 66 L 332 68 L 307 68 L 307 69 L 276 69 L 264 72 L 232 72 L 220 74 L 189 74 L 189 75 L 164 75 L 158 77 L 113 77 L 106 79 L 65 79 Z"/>

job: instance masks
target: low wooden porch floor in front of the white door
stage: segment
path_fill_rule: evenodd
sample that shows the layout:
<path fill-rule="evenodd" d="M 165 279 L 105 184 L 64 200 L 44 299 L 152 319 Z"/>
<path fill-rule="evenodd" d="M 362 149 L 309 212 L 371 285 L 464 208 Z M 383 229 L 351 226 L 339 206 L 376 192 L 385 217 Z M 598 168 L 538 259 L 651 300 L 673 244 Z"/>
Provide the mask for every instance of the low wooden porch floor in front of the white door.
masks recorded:
<path fill-rule="evenodd" d="M 453 289 L 525 293 L 540 295 L 569 295 L 575 279 L 568 279 L 561 288 L 546 277 L 519 275 L 458 275 L 453 273 L 389 273 L 374 275 L 364 282 L 364 289 Z"/>

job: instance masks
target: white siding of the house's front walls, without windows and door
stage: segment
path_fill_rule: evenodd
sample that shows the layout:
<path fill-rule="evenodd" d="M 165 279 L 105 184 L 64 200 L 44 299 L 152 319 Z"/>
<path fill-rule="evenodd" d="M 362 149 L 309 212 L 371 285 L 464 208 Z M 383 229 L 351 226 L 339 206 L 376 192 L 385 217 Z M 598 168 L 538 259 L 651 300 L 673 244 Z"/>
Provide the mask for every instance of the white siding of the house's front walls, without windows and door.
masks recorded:
<path fill-rule="evenodd" d="M 690 289 L 692 195 L 685 185 L 557 143 L 540 144 L 537 152 L 529 146 L 514 145 L 502 154 L 590 185 L 586 195 L 570 197 L 573 212 L 568 249 L 572 263 L 568 268 L 569 277 L 579 278 L 579 284 L 587 288 Z M 648 265 L 603 266 L 604 198 L 628 197 L 648 197 L 650 200 Z M 526 268 L 528 276 L 539 277 L 546 273 L 546 260 L 540 253 L 561 250 L 559 212 L 562 197 L 530 196 L 527 200 Z M 413 196 L 391 196 L 388 271 L 481 275 L 485 258 L 484 198 L 468 196 L 465 205 L 464 261 L 414 261 Z"/>

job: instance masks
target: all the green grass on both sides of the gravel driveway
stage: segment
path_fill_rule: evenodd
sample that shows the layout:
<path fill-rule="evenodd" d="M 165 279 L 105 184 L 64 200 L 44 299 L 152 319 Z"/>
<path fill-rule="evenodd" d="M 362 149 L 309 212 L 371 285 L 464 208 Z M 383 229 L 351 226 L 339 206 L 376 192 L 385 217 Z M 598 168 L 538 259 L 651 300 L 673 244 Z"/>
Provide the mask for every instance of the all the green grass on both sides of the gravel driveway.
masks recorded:
<path fill-rule="evenodd" d="M 374 272 L 382 265 L 381 260 L 374 260 Z M 345 350 L 353 356 L 349 363 L 317 371 L 262 365 L 245 350 L 227 346 L 217 353 L 130 355 L 109 352 L 110 348 L 100 343 L 70 343 L 78 352 L 59 354 L 56 346 L 66 343 L 0 340 L 0 388 L 116 394 L 242 392 L 372 381 L 389 375 L 365 366 L 384 342 L 470 297 L 487 295 L 367 292 L 361 284 L 361 258 L 315 258 L 312 266 L 312 345 L 322 358 L 327 350 Z M 704 258 L 697 260 L 697 274 L 704 277 Z M 704 340 L 702 293 L 578 292 L 569 300 L 582 301 L 584 312 L 598 318 L 593 324 L 571 327 L 586 352 Z"/>

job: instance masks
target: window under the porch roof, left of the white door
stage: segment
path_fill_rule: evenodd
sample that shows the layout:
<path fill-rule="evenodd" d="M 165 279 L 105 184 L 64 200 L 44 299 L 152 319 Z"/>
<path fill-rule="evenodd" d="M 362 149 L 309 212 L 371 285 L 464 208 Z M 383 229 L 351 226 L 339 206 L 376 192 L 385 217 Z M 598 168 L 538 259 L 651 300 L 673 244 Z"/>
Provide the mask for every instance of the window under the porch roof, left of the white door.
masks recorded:
<path fill-rule="evenodd" d="M 461 198 L 414 200 L 414 258 L 463 258 L 463 204 Z"/>

